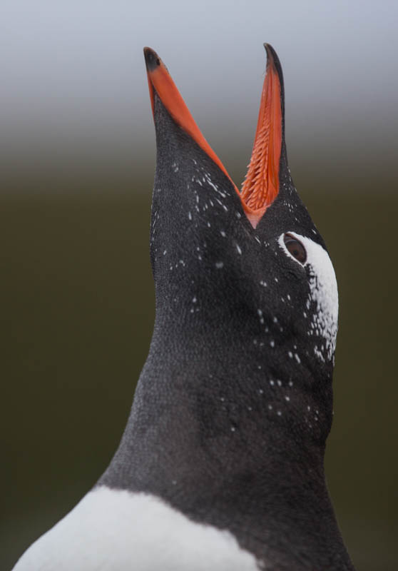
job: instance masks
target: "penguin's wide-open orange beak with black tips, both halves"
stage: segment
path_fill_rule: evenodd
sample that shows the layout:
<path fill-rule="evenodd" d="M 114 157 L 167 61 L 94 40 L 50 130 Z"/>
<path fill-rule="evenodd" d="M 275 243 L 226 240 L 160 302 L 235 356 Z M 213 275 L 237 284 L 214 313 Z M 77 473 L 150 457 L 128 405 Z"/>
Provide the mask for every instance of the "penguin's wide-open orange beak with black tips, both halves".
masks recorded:
<path fill-rule="evenodd" d="M 163 61 L 153 49 L 144 48 L 150 103 L 154 114 L 154 94 L 158 95 L 163 106 L 173 120 L 193 138 L 195 143 L 212 159 L 233 184 L 240 198 L 243 211 L 253 228 L 264 216 L 267 208 L 279 192 L 280 153 L 282 148 L 282 88 L 281 76 L 275 64 L 275 51 L 270 44 L 264 44 L 267 52 L 267 69 L 260 101 L 255 140 L 248 172 L 242 190 L 229 176 L 220 158 L 195 123 L 188 107 Z"/>

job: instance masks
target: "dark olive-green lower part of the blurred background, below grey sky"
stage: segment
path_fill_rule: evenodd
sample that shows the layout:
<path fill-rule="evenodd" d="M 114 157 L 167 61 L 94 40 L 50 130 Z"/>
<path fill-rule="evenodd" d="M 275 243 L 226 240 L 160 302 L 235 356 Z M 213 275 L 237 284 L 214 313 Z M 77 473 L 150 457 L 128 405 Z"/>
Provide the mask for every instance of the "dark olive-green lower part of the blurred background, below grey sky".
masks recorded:
<path fill-rule="evenodd" d="M 0 198 L 1 570 L 90 489 L 121 438 L 153 326 L 152 180 L 152 168 L 101 180 L 19 173 Z M 340 288 L 327 480 L 358 570 L 392 571 L 396 181 L 346 172 L 325 183 L 320 168 L 296 183 Z"/>

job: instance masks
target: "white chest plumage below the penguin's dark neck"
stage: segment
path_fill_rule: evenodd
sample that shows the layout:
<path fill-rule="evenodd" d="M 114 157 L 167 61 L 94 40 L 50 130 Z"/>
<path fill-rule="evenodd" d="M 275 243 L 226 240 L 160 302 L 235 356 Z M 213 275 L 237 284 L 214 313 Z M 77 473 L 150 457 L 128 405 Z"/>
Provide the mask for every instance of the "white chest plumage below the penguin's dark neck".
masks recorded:
<path fill-rule="evenodd" d="M 255 571 L 228 531 L 192 522 L 153 495 L 89 492 L 22 555 L 14 571 Z"/>

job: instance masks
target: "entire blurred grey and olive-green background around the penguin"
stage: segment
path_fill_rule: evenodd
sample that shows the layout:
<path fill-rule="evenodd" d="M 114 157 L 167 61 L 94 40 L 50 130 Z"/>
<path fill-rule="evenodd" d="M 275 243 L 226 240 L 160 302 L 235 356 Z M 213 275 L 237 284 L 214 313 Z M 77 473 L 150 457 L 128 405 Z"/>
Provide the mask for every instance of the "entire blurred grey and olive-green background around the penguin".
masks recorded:
<path fill-rule="evenodd" d="M 397 569 L 398 5 L 3 0 L 0 568 L 111 460 L 153 325 L 156 49 L 240 184 L 264 41 L 295 183 L 340 287 L 327 480 L 358 570 Z"/>

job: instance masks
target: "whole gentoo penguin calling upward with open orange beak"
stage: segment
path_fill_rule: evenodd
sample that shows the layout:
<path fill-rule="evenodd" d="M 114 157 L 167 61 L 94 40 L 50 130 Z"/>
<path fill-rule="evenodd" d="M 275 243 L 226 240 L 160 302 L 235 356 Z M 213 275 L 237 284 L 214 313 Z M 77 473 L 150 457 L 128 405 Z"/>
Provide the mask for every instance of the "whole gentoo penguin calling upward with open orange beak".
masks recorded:
<path fill-rule="evenodd" d="M 239 192 L 144 49 L 153 338 L 111 465 L 16 571 L 354 569 L 324 473 L 335 272 L 290 176 L 282 69 L 265 50 Z"/>

